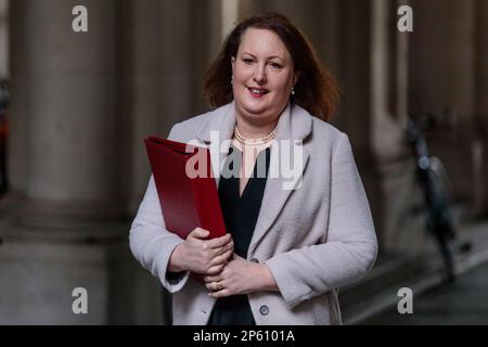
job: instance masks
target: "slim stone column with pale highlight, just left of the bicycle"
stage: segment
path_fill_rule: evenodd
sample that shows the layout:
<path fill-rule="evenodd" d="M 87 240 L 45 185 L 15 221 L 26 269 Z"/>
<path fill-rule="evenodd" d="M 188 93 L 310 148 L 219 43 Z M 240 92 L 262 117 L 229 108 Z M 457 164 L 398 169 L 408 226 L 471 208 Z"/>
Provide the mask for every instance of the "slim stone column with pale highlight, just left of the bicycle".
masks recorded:
<path fill-rule="evenodd" d="M 369 141 L 374 159 L 365 162 L 364 168 L 367 187 L 375 188 L 370 201 L 382 245 L 387 252 L 414 253 L 425 249 L 426 233 L 422 219 L 412 214 L 423 195 L 403 133 L 410 36 L 397 29 L 397 11 L 403 4 L 409 2 L 371 1 Z"/>

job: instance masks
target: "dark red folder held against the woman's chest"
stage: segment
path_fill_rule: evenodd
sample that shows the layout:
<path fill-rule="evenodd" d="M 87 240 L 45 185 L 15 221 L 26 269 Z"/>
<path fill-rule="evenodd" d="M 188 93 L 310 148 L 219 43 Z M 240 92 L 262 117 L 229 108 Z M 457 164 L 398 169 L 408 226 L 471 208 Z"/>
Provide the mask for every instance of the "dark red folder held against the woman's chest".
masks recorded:
<path fill-rule="evenodd" d="M 210 232 L 208 239 L 223 236 L 226 226 L 208 149 L 156 137 L 144 142 L 166 229 L 183 240 L 197 227 Z M 200 171 L 205 175 L 192 178 L 185 168 L 194 155 L 205 157 L 206 165 Z M 194 167 L 203 164 L 198 160 Z"/>

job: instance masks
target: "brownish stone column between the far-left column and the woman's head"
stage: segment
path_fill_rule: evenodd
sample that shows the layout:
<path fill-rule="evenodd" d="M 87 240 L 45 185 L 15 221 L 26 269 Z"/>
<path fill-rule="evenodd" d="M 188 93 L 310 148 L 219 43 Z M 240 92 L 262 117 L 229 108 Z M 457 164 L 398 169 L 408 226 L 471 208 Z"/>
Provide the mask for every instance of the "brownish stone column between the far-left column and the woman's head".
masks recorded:
<path fill-rule="evenodd" d="M 203 77 L 221 43 L 219 1 L 131 0 L 124 7 L 123 100 L 131 167 L 129 213 L 147 184 L 143 139 L 166 137 L 172 125 L 204 113 Z"/>

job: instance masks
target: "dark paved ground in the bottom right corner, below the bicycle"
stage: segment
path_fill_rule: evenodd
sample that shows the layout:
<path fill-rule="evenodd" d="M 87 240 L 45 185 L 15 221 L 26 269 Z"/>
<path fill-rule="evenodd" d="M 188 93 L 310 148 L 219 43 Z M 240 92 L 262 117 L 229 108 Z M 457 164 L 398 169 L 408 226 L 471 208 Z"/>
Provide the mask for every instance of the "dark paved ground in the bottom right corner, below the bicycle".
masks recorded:
<path fill-rule="evenodd" d="M 399 298 L 400 299 L 400 298 Z M 413 313 L 388 309 L 363 324 L 475 324 L 488 325 L 488 262 L 413 297 Z"/>

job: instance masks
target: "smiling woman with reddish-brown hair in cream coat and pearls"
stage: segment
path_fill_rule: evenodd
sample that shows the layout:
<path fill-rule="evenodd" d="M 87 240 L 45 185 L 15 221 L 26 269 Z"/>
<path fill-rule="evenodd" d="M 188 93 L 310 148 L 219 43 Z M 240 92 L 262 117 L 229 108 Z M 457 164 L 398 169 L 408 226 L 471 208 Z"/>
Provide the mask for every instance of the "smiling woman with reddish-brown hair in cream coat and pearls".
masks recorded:
<path fill-rule="evenodd" d="M 339 324 L 337 290 L 368 272 L 377 244 L 348 138 L 324 121 L 333 79 L 301 33 L 271 13 L 233 29 L 205 92 L 218 108 L 169 138 L 231 140 L 222 167 L 240 175 L 217 178 L 228 234 L 168 232 L 151 178 L 130 231 L 134 257 L 174 294 L 175 324 Z M 282 143 L 300 153 L 292 189 L 270 175 Z M 261 175 L 256 163 L 266 163 Z"/>

